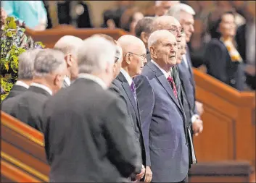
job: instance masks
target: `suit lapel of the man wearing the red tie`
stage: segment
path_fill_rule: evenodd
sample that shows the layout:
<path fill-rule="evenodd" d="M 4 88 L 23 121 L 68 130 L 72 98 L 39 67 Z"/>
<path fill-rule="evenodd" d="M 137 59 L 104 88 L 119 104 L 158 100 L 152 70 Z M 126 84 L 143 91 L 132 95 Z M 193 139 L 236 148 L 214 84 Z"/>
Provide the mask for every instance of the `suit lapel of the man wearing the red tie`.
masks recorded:
<path fill-rule="evenodd" d="M 178 99 L 175 97 L 174 93 L 173 93 L 173 89 L 170 86 L 170 83 L 168 82 L 168 80 L 166 79 L 165 75 L 162 73 L 162 71 L 156 66 L 154 65 L 151 61 L 148 63 L 148 66 L 156 73 L 156 77 L 157 80 L 159 80 L 159 82 L 161 83 L 162 87 L 165 88 L 165 90 L 167 91 L 167 93 L 170 95 L 170 98 L 173 99 L 173 101 L 176 103 L 176 105 L 178 106 L 178 108 L 180 108 L 181 112 L 182 112 L 182 108 L 180 103 L 178 102 Z"/>

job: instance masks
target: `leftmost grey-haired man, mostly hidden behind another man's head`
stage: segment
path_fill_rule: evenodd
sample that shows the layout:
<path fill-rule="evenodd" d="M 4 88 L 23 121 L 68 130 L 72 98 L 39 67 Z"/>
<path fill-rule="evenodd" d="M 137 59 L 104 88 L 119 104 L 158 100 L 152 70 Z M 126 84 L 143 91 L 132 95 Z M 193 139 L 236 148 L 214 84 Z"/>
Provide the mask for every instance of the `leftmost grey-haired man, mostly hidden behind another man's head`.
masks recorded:
<path fill-rule="evenodd" d="M 15 97 L 16 95 L 20 95 L 20 93 L 23 93 L 29 88 L 29 85 L 33 79 L 33 70 L 36 54 L 38 54 L 39 51 L 41 51 L 41 49 L 33 49 L 20 54 L 18 80 L 12 87 L 12 90 L 10 90 L 5 100 Z"/>

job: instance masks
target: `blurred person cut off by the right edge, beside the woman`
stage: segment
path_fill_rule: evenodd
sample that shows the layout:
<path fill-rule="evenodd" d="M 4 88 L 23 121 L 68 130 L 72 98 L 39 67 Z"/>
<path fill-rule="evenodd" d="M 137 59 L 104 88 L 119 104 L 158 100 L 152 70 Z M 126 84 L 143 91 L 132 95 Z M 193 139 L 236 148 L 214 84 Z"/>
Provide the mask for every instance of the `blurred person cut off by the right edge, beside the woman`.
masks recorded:
<path fill-rule="evenodd" d="M 244 16 L 246 24 L 237 28 L 236 43 L 244 59 L 246 82 L 250 89 L 256 89 L 255 77 L 255 1 L 247 1 Z"/>

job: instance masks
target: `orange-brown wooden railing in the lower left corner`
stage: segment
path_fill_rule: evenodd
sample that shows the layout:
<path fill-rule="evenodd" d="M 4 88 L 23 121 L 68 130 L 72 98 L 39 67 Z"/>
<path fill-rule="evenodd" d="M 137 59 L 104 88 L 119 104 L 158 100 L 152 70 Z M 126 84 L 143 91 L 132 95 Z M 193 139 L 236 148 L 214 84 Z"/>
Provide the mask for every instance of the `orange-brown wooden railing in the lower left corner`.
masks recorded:
<path fill-rule="evenodd" d="M 1 176 L 11 182 L 49 182 L 44 135 L 3 111 Z"/>

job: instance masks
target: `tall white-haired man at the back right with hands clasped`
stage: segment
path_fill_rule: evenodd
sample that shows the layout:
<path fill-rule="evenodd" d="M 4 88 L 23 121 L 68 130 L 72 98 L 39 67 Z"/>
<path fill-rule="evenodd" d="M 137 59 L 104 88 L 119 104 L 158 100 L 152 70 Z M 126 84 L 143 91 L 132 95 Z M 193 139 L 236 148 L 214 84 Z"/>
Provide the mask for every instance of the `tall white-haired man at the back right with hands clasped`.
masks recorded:
<path fill-rule="evenodd" d="M 186 43 L 189 43 L 192 33 L 194 33 L 194 9 L 187 4 L 176 4 L 168 10 L 167 15 L 176 17 L 181 23 L 186 34 Z M 188 99 L 188 113 L 186 113 L 187 123 L 191 125 L 195 135 L 202 132 L 202 120 L 200 119 L 199 112 L 196 106 L 195 97 L 195 82 L 191 66 L 191 58 L 189 48 L 186 46 L 186 54 L 183 55 L 181 64 L 178 64 L 178 72 L 181 81 L 183 82 L 183 89 L 185 97 Z"/>

